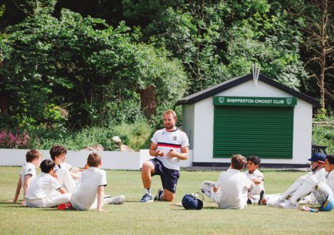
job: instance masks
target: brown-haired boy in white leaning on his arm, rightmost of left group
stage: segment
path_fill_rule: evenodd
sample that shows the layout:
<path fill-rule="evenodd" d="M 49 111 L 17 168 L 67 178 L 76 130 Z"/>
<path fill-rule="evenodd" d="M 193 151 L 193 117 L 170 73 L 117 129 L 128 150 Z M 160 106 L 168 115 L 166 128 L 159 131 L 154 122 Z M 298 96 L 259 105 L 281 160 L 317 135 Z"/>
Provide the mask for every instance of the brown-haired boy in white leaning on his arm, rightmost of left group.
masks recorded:
<path fill-rule="evenodd" d="M 105 171 L 100 169 L 102 164 L 100 155 L 95 152 L 88 155 L 87 164 L 89 167 L 83 171 L 80 182 L 71 197 L 72 207 L 80 211 L 87 211 L 89 209 L 105 211 L 102 209 L 104 203 L 124 203 L 125 197 L 122 195 L 103 199 L 105 186 L 107 186 L 107 178 Z"/>

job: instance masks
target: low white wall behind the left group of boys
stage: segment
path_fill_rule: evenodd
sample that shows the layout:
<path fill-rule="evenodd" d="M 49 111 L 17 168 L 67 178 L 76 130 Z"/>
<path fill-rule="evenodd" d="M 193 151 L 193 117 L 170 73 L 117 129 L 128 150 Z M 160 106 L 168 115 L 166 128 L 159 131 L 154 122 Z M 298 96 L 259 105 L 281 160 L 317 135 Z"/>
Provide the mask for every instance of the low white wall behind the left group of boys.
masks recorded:
<path fill-rule="evenodd" d="M 28 150 L 0 149 L 0 166 L 22 166 L 26 162 Z M 48 150 L 40 150 L 43 153 L 43 160 L 50 158 Z M 149 150 L 140 152 L 118 152 L 118 151 L 96 151 L 102 157 L 103 169 L 130 169 L 138 170 L 142 163 L 152 158 Z M 93 151 L 68 151 L 66 162 L 75 167 L 83 167 L 87 157 Z M 192 167 L 192 150 L 189 151 L 188 160 L 180 161 L 181 167 Z"/>

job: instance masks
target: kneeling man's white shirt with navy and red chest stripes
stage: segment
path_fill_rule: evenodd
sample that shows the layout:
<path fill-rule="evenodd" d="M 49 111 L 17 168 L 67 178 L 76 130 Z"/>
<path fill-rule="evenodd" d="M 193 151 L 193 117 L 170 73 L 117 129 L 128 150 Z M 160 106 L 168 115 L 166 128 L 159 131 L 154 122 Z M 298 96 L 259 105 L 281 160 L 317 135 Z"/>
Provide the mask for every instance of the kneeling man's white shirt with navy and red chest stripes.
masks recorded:
<path fill-rule="evenodd" d="M 176 152 L 182 153 L 182 147 L 189 146 L 187 134 L 182 130 L 179 130 L 179 128 L 173 131 L 167 131 L 166 128 L 163 128 L 157 130 L 151 140 L 157 144 L 157 150 L 164 152 L 164 156 L 157 156 L 157 159 L 168 169 L 179 170 L 179 158 L 167 158 L 166 155 L 169 150 L 175 150 Z"/>

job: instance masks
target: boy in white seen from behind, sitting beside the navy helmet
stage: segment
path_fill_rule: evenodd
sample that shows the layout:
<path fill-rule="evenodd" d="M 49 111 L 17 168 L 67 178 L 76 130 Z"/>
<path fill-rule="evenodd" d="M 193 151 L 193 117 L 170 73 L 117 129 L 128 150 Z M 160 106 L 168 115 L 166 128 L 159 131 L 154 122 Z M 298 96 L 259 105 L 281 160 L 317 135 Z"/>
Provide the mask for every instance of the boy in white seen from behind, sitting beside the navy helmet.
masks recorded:
<path fill-rule="evenodd" d="M 231 168 L 222 172 L 216 183 L 206 181 L 202 183 L 201 191 L 218 204 L 220 209 L 244 209 L 247 204 L 247 192 L 254 187 L 240 171 L 244 169 L 246 159 L 242 155 L 231 157 Z"/>

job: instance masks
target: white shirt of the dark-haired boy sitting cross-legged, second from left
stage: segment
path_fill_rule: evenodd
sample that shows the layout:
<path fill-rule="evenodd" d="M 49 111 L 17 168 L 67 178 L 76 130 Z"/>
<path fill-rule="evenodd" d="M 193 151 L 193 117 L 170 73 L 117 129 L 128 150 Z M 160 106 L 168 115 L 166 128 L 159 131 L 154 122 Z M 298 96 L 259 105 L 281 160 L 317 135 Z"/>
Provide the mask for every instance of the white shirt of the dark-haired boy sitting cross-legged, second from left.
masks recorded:
<path fill-rule="evenodd" d="M 59 188 L 61 188 L 61 184 L 58 183 L 57 179 L 53 178 L 51 174 L 41 172 L 31 182 L 26 198 L 31 200 L 46 199 Z"/>

